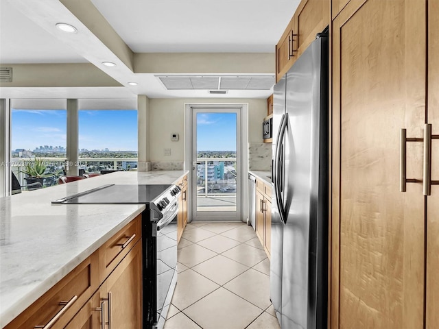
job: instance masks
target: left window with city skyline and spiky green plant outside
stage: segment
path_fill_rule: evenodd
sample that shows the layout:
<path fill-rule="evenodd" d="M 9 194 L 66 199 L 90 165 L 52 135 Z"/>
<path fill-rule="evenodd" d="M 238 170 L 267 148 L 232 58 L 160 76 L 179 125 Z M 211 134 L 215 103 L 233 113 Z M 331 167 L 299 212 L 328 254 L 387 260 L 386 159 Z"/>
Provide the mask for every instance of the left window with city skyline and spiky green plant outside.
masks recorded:
<path fill-rule="evenodd" d="M 36 162 L 43 187 L 57 184 L 67 157 L 65 99 L 11 99 L 11 170 L 21 186 Z M 30 168 L 29 168 L 30 167 Z"/>

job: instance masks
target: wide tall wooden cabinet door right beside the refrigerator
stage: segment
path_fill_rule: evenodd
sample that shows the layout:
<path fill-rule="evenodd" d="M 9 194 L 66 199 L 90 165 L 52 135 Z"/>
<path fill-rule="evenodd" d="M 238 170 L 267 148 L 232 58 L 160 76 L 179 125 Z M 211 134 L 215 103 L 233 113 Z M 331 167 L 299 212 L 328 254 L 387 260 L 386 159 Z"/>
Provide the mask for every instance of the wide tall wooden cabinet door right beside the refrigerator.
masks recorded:
<path fill-rule="evenodd" d="M 423 328 L 426 1 L 351 0 L 333 21 L 331 328 Z M 422 180 L 423 143 L 407 143 Z"/>

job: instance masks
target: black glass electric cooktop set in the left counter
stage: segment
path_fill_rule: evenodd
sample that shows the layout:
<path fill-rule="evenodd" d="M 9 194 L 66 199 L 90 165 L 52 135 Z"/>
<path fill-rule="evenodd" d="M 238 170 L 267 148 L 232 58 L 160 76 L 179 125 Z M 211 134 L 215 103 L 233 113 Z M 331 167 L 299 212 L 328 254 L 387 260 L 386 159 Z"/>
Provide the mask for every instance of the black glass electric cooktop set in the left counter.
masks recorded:
<path fill-rule="evenodd" d="M 171 185 L 104 185 L 52 201 L 52 204 L 146 204 Z"/>

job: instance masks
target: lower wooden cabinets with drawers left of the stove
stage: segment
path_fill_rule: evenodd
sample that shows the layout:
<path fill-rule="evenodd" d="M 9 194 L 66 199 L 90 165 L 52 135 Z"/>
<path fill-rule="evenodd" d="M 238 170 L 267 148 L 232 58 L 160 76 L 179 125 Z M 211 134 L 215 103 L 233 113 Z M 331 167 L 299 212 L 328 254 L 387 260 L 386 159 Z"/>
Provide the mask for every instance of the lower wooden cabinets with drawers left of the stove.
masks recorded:
<path fill-rule="evenodd" d="M 46 326 L 50 321 L 51 328 L 102 328 L 102 302 L 106 321 L 111 309 L 112 328 L 141 328 L 141 265 L 139 215 L 5 329 Z"/>

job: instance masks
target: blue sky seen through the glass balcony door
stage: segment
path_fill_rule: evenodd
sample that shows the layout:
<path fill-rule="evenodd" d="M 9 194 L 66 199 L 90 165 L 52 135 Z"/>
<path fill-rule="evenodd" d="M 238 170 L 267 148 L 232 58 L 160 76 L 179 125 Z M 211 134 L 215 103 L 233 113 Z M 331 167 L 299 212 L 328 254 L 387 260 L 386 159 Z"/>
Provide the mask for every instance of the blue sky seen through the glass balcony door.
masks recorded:
<path fill-rule="evenodd" d="M 236 151 L 236 113 L 197 113 L 197 151 Z"/>

